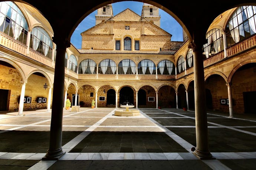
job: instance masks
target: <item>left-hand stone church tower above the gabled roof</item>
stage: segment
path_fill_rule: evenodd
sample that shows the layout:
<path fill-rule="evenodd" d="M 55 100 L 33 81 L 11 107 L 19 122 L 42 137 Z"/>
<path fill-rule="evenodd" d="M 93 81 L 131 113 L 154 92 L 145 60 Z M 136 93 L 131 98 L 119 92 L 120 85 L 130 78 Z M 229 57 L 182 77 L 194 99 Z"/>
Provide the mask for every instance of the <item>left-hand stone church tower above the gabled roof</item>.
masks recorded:
<path fill-rule="evenodd" d="M 99 8 L 97 10 L 97 14 L 95 15 L 96 25 L 102 21 L 108 20 L 111 17 L 113 17 L 112 4 Z"/>

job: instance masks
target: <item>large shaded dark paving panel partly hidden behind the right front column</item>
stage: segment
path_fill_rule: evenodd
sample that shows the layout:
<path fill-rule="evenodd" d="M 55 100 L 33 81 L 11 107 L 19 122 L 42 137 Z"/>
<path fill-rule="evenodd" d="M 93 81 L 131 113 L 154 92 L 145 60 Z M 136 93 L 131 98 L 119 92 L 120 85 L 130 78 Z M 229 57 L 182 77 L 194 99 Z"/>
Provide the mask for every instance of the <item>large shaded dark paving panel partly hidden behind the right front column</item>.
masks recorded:
<path fill-rule="evenodd" d="M 196 128 L 168 128 L 196 146 Z M 208 128 L 211 152 L 256 152 L 256 136 L 227 128 Z"/>

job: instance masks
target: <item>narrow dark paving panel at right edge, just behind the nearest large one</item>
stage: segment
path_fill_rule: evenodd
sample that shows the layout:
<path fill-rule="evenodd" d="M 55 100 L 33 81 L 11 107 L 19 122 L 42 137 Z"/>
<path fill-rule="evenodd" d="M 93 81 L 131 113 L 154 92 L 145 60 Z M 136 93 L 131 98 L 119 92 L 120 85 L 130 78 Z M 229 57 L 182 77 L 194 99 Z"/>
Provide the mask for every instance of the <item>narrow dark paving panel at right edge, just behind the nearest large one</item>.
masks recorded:
<path fill-rule="evenodd" d="M 233 118 L 207 118 L 207 120 L 224 126 L 256 126 L 256 122 Z"/>

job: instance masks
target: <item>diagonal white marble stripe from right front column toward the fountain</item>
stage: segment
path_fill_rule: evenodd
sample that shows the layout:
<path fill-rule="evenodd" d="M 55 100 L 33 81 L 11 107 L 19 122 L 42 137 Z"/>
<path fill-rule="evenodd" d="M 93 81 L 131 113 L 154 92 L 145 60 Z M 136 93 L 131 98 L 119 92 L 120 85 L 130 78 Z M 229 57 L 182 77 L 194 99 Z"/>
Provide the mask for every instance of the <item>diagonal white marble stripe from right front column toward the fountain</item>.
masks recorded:
<path fill-rule="evenodd" d="M 141 111 L 140 111 L 141 112 Z M 168 136 L 170 136 L 173 140 L 175 140 L 175 142 L 177 142 L 178 144 L 180 144 L 182 147 L 184 147 L 188 152 L 192 152 L 191 151 L 191 147 L 195 147 L 193 145 L 191 145 L 190 143 L 188 143 L 186 140 L 182 139 L 180 136 L 176 135 L 175 133 L 171 132 L 171 130 L 165 128 L 163 125 L 161 125 L 160 123 L 158 123 L 157 121 L 155 121 L 154 119 L 150 118 L 147 114 L 141 112 L 141 114 L 143 114 L 145 117 L 147 117 L 149 120 L 151 120 L 151 122 L 155 123 L 156 125 L 158 125 L 161 129 L 163 129 L 163 132 L 165 132 Z"/>

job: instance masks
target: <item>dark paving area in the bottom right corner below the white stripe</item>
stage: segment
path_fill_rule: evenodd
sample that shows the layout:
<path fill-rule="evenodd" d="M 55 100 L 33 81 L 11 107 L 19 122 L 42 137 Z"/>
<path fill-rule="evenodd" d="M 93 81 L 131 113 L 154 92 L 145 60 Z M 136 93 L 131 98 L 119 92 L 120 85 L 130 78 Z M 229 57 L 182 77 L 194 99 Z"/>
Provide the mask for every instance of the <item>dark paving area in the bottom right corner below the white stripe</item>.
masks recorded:
<path fill-rule="evenodd" d="M 219 160 L 232 170 L 254 170 L 256 159 L 223 159 Z"/>

